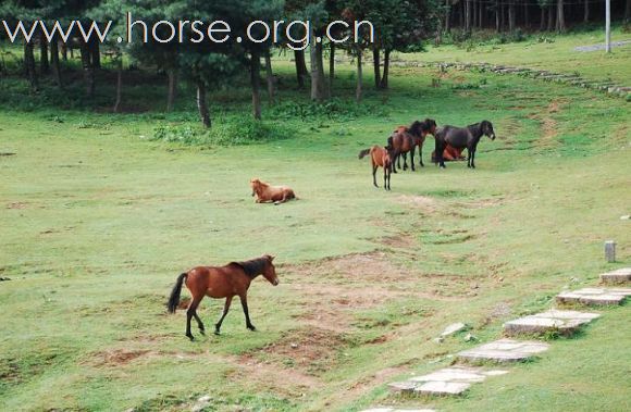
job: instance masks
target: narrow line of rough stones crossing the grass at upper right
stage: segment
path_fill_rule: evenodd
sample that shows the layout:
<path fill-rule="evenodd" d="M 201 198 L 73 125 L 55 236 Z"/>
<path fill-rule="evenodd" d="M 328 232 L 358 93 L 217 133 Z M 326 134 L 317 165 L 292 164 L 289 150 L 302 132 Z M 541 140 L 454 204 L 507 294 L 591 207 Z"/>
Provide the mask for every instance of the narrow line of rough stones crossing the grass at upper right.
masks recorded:
<path fill-rule="evenodd" d="M 528 67 L 512 67 L 500 64 L 491 63 L 451 63 L 451 62 L 406 62 L 398 61 L 392 63 L 394 66 L 412 66 L 412 67 L 437 67 L 441 71 L 447 68 L 456 70 L 477 70 L 479 72 L 492 72 L 496 74 L 514 74 L 522 77 L 537 78 L 544 82 L 562 83 L 570 86 L 578 86 L 586 89 L 602 91 L 611 96 L 630 99 L 631 87 L 617 85 L 607 80 L 589 80 L 578 74 L 562 74 L 548 72 L 546 70 L 528 68 Z"/>

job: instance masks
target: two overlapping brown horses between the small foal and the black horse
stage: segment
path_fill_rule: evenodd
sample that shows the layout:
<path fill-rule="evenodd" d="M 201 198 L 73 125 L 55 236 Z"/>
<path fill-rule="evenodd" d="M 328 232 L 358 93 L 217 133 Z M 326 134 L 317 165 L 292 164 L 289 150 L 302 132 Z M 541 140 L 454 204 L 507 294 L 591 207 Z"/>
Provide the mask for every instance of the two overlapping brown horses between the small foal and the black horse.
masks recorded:
<path fill-rule="evenodd" d="M 393 159 L 393 171 L 397 173 L 397 167 L 401 168 L 400 158 L 404 158 L 404 171 L 408 168 L 408 155 L 410 153 L 410 162 L 412 171 L 415 171 L 415 151 L 419 147 L 419 165 L 423 164 L 423 143 L 425 136 L 434 134 L 436 130 L 436 122 L 432 118 L 425 118 L 423 122 L 416 121 L 410 127 L 399 126 L 387 139 L 388 146 L 395 150 L 395 159 Z M 396 162 L 396 164 L 394 163 Z"/>

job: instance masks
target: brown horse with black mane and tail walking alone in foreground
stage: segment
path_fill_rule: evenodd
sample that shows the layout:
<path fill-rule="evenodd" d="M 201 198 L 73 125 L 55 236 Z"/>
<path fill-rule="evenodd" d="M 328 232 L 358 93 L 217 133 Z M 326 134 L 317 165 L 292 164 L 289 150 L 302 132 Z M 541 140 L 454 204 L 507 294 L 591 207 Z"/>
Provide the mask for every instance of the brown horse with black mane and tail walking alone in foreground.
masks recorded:
<path fill-rule="evenodd" d="M 177 304 L 180 304 L 180 294 L 182 292 L 182 284 L 186 285 L 190 291 L 193 300 L 186 311 L 186 336 L 190 340 L 194 339 L 190 333 L 190 320 L 195 317 L 199 332 L 205 335 L 203 323 L 197 315 L 197 307 L 205 296 L 214 299 L 225 298 L 223 313 L 219 322 L 214 325 L 214 334 L 219 335 L 221 324 L 230 305 L 232 299 L 238 296 L 242 301 L 244 314 L 246 315 L 246 327 L 250 330 L 256 330 L 255 325 L 250 322 L 248 312 L 248 288 L 250 283 L 259 275 L 263 275 L 272 285 L 279 285 L 279 277 L 272 261 L 274 257 L 264 254 L 261 258 L 252 259 L 245 262 L 231 262 L 225 266 L 198 266 L 190 271 L 181 274 L 171 290 L 171 297 L 166 307 L 170 313 L 175 313 Z"/>

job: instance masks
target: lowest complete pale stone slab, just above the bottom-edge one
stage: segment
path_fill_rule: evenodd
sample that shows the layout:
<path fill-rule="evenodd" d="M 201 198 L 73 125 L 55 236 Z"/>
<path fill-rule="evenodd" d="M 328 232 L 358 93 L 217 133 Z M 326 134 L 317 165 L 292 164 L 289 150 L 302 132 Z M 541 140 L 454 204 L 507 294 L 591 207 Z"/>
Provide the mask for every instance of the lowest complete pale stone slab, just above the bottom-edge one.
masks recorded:
<path fill-rule="evenodd" d="M 449 396 L 461 395 L 472 384 L 481 383 L 488 376 L 504 375 L 508 371 L 486 370 L 473 366 L 451 366 L 429 375 L 416 376 L 388 385 L 395 392 L 413 395 Z"/>

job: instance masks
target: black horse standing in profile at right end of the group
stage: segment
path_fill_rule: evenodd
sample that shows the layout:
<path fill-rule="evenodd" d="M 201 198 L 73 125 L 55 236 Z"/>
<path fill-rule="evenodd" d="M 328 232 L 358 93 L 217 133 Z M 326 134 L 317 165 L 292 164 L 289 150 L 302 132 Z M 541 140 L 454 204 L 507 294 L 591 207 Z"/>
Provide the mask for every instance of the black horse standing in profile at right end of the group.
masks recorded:
<path fill-rule="evenodd" d="M 475 149 L 482 135 L 495 140 L 495 132 L 491 122 L 482 121 L 467 127 L 444 126 L 440 128 L 434 135 L 436 138 L 436 164 L 445 167 L 443 151 L 449 145 L 458 149 L 467 148 L 467 167 L 475 168 Z"/>

